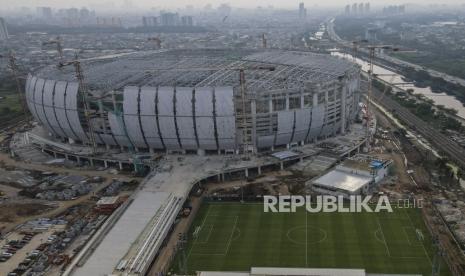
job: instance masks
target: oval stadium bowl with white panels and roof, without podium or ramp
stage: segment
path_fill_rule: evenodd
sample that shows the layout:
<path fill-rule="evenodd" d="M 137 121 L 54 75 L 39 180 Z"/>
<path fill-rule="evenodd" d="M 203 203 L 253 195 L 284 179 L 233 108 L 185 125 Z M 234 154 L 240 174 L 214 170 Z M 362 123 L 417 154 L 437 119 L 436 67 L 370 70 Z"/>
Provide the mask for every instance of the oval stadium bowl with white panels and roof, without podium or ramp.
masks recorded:
<path fill-rule="evenodd" d="M 26 98 L 51 136 L 138 152 L 259 152 L 344 133 L 360 68 L 309 52 L 161 50 L 29 75 Z"/>

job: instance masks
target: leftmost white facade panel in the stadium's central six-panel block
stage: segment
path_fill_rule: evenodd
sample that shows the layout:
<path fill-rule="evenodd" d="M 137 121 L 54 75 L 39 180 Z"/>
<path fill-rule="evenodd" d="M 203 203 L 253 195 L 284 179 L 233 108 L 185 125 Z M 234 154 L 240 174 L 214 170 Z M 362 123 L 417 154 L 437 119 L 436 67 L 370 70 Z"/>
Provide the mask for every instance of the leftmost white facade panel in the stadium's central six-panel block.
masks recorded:
<path fill-rule="evenodd" d="M 123 96 L 124 124 L 129 139 L 135 147 L 146 148 L 147 144 L 142 136 L 139 123 L 139 88 L 135 86 L 126 86 Z"/>

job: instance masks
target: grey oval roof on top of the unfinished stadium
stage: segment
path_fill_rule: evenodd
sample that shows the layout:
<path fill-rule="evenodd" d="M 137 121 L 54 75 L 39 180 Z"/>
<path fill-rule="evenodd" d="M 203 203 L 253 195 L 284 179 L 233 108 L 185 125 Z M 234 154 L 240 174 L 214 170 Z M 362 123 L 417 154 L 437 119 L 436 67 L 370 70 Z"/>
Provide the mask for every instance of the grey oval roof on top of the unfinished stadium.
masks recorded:
<path fill-rule="evenodd" d="M 324 54 L 283 50 L 196 49 L 158 50 L 81 60 L 85 82 L 92 90 L 125 86 L 238 86 L 238 68 L 266 65 L 275 70 L 245 70 L 247 88 L 300 88 L 344 76 L 358 66 Z M 38 77 L 76 81 L 73 66 L 48 66 Z"/>

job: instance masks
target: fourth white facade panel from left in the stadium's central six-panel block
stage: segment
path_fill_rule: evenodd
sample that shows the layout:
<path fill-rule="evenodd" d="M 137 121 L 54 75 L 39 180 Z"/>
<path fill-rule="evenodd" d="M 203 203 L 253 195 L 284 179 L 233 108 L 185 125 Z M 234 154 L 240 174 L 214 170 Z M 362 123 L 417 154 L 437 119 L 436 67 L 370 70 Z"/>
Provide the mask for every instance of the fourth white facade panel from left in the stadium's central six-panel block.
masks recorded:
<path fill-rule="evenodd" d="M 191 87 L 176 87 L 176 122 L 183 149 L 197 149 Z"/>

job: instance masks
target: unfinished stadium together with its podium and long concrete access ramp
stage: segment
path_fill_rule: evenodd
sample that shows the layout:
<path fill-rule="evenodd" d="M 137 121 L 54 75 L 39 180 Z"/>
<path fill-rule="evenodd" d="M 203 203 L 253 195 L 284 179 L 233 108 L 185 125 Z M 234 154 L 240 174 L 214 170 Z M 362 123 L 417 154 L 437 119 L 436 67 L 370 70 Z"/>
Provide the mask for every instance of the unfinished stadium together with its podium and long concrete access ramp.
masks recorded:
<path fill-rule="evenodd" d="M 158 50 L 31 73 L 39 126 L 19 140 L 91 166 L 163 158 L 63 275 L 146 273 L 197 184 L 358 152 L 360 90 L 359 66 L 283 50 Z"/>

